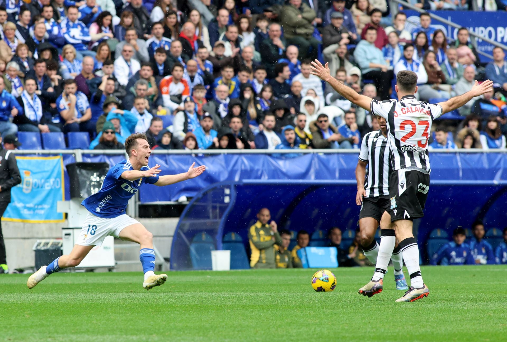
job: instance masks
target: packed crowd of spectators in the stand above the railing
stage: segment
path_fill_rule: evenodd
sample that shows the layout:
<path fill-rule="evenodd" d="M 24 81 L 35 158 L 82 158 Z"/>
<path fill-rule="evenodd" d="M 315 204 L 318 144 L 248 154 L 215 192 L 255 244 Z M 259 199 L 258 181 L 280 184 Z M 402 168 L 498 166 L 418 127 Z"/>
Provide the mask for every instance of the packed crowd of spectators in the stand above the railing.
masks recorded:
<path fill-rule="evenodd" d="M 468 10 L 466 0 L 414 0 Z M 484 2 L 486 11 L 504 2 Z M 372 98 L 396 98 L 400 70 L 435 102 L 489 78 L 495 90 L 441 120 L 430 148 L 505 147 L 507 64 L 481 64 L 465 28 L 451 41 L 427 13 L 407 30 L 386 0 L 32 0 L 0 7 L 0 133 L 86 132 L 90 149 L 358 148 L 379 126 L 310 61 Z M 12 137 L 11 137 L 12 138 Z M 12 140 L 12 139 L 11 139 Z M 295 157 L 300 153 L 283 154 Z"/>

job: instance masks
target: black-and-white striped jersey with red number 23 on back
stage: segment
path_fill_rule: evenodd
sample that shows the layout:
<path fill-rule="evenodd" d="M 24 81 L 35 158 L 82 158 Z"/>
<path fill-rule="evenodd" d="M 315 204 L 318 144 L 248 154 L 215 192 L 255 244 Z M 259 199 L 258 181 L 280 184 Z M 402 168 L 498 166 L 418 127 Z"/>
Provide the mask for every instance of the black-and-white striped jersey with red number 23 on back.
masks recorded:
<path fill-rule="evenodd" d="M 443 114 L 442 106 L 404 96 L 400 101 L 372 100 L 371 112 L 387 121 L 387 142 L 391 150 L 393 170 L 418 169 L 430 173 L 428 139 L 433 119 Z"/>

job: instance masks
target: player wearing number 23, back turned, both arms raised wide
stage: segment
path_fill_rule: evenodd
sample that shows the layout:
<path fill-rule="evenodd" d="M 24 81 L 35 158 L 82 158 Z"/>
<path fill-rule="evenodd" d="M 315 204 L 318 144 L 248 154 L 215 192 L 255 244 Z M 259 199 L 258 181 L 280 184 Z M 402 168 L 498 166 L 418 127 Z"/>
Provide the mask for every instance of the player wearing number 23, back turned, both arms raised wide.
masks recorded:
<path fill-rule="evenodd" d="M 489 79 L 479 84 L 475 82 L 469 92 L 441 102 L 428 104 L 417 101 L 417 74 L 413 71 L 400 71 L 396 75 L 394 89 L 398 100 L 376 101 L 357 94 L 330 75 L 328 63 L 325 67 L 317 60 L 312 62 L 312 74 L 327 81 L 334 90 L 353 104 L 380 115 L 386 119 L 387 142 L 392 153 L 393 171 L 389 176 L 389 199 L 391 222 L 394 224 L 396 238 L 400 241 L 403 260 L 410 274 L 410 288 L 396 302 L 413 302 L 429 294 L 422 280 L 419 266 L 419 248 L 414 238 L 413 220 L 423 217 L 424 204 L 429 190 L 429 158 L 427 144 L 433 119 L 460 108 L 468 101 L 491 91 L 493 82 Z M 390 255 L 378 255 L 379 261 L 387 267 Z M 380 282 L 385 269 L 377 267 L 375 274 L 362 289 L 369 291 L 382 286 Z M 379 291 L 380 292 L 380 291 Z"/>

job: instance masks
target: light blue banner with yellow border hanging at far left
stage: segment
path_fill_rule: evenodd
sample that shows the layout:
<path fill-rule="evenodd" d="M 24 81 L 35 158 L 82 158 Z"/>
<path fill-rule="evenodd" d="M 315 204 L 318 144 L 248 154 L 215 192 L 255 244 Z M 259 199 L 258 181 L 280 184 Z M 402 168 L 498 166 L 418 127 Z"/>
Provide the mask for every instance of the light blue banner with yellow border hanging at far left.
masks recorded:
<path fill-rule="evenodd" d="M 64 196 L 63 159 L 16 156 L 21 184 L 11 189 L 11 203 L 4 220 L 27 223 L 63 222 L 56 202 Z"/>

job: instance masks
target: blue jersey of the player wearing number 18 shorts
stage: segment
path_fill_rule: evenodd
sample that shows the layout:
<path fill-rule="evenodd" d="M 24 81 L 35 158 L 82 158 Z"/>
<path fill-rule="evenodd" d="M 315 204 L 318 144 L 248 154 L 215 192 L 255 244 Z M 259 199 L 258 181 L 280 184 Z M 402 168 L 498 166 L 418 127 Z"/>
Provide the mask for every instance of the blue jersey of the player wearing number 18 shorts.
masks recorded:
<path fill-rule="evenodd" d="M 143 166 L 141 171 L 150 167 Z M 135 181 L 128 181 L 122 178 L 125 171 L 133 170 L 132 164 L 127 159 L 120 161 L 111 167 L 105 175 L 102 187 L 96 193 L 85 199 L 83 205 L 93 215 L 104 219 L 112 219 L 125 213 L 127 203 L 139 190 L 143 183 L 155 184 L 159 176 L 143 177 Z"/>

